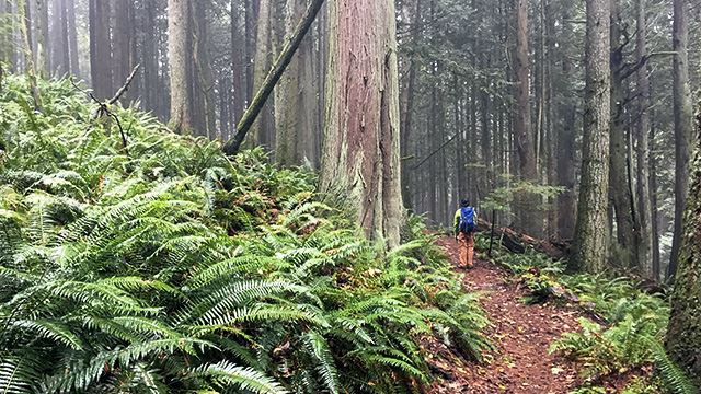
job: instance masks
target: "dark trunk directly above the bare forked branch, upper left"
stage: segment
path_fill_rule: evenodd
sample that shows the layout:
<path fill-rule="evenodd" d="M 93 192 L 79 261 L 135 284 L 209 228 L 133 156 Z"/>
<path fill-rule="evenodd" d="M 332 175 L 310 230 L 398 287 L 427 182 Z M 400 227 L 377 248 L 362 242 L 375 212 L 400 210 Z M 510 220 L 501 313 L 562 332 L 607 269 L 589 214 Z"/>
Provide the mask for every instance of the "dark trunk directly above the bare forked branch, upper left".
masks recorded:
<path fill-rule="evenodd" d="M 90 0 L 90 73 L 97 100 L 114 94 L 112 66 L 110 2 Z"/>

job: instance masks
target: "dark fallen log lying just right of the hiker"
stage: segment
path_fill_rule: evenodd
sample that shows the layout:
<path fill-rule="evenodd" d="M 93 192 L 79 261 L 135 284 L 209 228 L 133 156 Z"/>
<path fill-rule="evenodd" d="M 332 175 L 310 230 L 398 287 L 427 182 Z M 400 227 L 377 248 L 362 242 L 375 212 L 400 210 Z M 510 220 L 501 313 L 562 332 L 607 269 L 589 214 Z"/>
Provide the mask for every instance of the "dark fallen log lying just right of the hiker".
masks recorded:
<path fill-rule="evenodd" d="M 478 221 L 478 230 L 491 233 L 492 223 L 480 219 Z M 526 253 L 528 248 L 532 248 L 553 259 L 565 258 L 570 255 L 571 244 L 567 241 L 555 239 L 541 240 L 508 227 L 495 228 L 493 236 L 494 240 L 501 241 L 502 245 L 512 253 Z"/>

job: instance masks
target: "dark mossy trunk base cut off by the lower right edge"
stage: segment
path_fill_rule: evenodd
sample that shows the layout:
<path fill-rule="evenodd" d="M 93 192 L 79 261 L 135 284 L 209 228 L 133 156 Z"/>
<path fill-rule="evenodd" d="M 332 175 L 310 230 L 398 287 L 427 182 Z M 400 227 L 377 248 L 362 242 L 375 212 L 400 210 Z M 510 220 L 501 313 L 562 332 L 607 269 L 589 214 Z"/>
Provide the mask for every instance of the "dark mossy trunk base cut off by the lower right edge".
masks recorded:
<path fill-rule="evenodd" d="M 700 108 L 701 109 L 701 108 Z M 701 384 L 701 115 L 696 136 L 697 154 L 691 163 L 691 192 L 683 216 L 683 237 L 671 296 L 667 350 Z"/>

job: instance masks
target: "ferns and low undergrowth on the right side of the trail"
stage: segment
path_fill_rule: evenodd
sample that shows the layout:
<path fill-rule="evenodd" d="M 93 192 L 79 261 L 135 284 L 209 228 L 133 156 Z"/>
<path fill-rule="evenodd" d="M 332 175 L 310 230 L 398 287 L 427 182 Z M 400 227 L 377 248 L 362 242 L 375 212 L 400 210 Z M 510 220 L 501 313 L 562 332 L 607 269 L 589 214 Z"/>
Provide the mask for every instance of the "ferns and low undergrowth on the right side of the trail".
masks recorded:
<path fill-rule="evenodd" d="M 478 240 L 484 248 L 485 237 Z M 562 262 L 528 251 L 497 251 L 494 260 L 528 290 L 526 303 L 554 301 L 582 312 L 581 329 L 565 333 L 550 351 L 577 362 L 583 387 L 576 393 L 605 393 L 609 378 L 635 376 L 624 393 L 697 393 L 688 376 L 667 357 L 664 340 L 669 305 L 662 294 L 647 293 L 628 277 L 565 273 Z"/>

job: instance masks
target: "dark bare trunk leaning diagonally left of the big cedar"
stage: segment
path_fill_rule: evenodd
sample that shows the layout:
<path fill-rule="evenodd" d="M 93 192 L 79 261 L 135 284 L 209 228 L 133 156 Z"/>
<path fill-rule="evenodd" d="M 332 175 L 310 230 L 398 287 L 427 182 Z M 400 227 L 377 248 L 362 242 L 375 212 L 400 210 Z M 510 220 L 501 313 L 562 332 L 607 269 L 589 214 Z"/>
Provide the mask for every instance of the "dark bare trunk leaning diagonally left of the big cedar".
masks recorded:
<path fill-rule="evenodd" d="M 307 35 L 312 22 L 317 19 L 317 14 L 323 3 L 324 0 L 312 0 L 311 3 L 309 3 L 307 11 L 304 11 L 304 15 L 295 28 L 291 37 L 287 39 L 280 55 L 275 60 L 275 65 L 273 65 L 273 68 L 265 77 L 263 85 L 257 93 L 255 93 L 251 105 L 243 113 L 241 120 L 239 120 L 235 135 L 223 144 L 222 150 L 226 154 L 233 155 L 239 152 L 239 149 L 245 139 L 245 135 L 251 129 L 251 126 L 253 126 L 253 123 L 263 109 L 265 102 L 271 93 L 273 93 L 273 89 L 283 77 L 283 73 L 289 62 L 292 60 L 292 56 L 295 56 L 297 48 L 299 48 L 299 44 L 301 44 L 302 38 Z"/>

